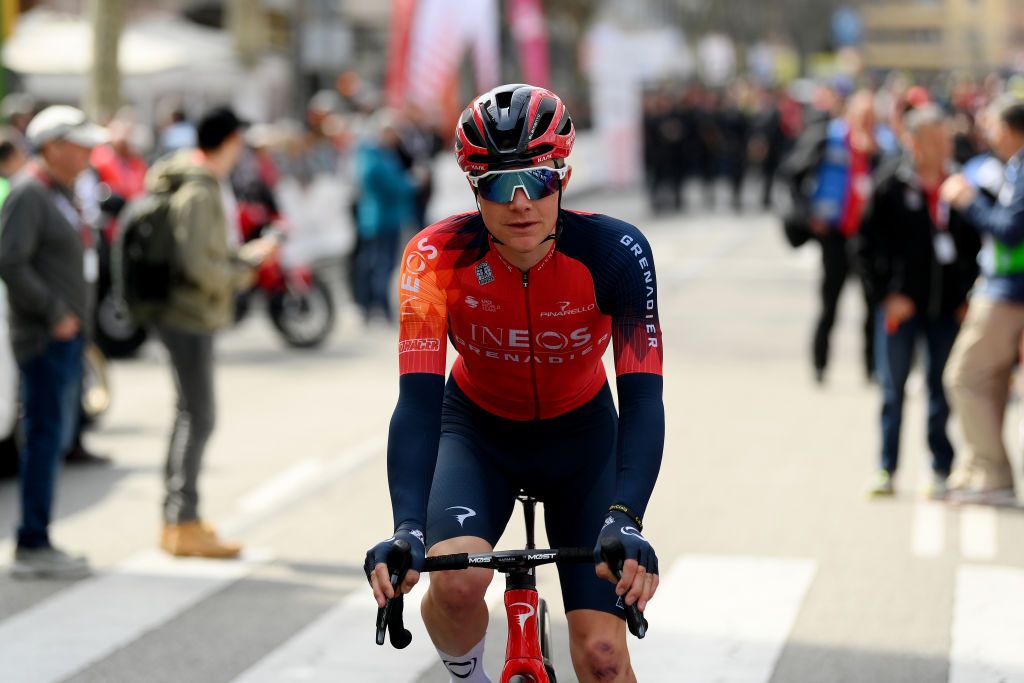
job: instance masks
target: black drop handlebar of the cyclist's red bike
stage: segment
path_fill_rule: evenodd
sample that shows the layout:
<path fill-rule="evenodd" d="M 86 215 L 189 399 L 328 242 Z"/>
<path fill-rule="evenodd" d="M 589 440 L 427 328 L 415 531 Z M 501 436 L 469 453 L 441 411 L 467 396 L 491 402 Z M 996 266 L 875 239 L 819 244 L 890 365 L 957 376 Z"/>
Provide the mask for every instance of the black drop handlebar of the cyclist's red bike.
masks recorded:
<path fill-rule="evenodd" d="M 626 551 L 617 541 L 606 542 L 601 546 L 601 559 L 607 562 L 615 579 L 622 575 Z M 395 597 L 384 603 L 377 610 L 377 644 L 384 644 L 385 633 L 390 631 L 391 645 L 396 649 L 407 647 L 413 640 L 413 635 L 406 630 L 402 621 L 404 601 L 400 586 L 406 579 L 412 563 L 409 544 L 395 541 L 388 552 L 387 566 L 391 588 Z M 421 571 L 452 571 L 480 567 L 498 569 L 499 571 L 514 571 L 528 569 L 542 564 L 593 564 L 594 551 L 588 548 L 548 548 L 534 550 L 502 550 L 489 553 L 456 553 L 454 555 L 436 555 L 426 558 Z M 368 569 L 369 571 L 369 569 Z M 647 620 L 634 602 L 632 605 L 623 603 L 626 610 L 626 624 L 637 638 L 647 635 Z"/>

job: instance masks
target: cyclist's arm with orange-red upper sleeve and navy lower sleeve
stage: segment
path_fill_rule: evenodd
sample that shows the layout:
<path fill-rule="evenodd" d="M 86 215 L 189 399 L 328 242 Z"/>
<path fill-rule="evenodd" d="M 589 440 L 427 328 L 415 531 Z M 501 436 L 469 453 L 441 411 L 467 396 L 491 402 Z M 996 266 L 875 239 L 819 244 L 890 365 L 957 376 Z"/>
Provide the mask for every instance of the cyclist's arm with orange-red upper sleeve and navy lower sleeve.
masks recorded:
<path fill-rule="evenodd" d="M 414 238 L 402 257 L 398 290 L 398 403 L 388 433 L 388 487 L 394 526 L 424 528 L 437 463 L 447 349 L 447 304 L 437 280 L 439 252 Z"/>

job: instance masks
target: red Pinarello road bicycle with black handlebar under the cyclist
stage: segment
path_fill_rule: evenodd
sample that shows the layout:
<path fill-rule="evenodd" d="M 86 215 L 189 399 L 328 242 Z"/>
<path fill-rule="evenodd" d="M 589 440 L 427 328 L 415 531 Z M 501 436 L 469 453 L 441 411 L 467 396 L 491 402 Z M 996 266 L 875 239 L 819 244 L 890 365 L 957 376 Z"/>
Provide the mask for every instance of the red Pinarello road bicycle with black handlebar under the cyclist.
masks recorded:
<path fill-rule="evenodd" d="M 523 505 L 526 522 L 526 547 L 522 550 L 492 551 L 489 553 L 457 553 L 428 557 L 421 572 L 450 571 L 483 567 L 497 569 L 505 574 L 505 612 L 508 618 L 508 641 L 505 647 L 505 667 L 501 683 L 556 683 L 551 657 L 551 623 L 547 602 L 537 591 L 536 567 L 542 564 L 593 563 L 594 551 L 589 548 L 559 548 L 539 550 L 534 542 L 534 521 L 537 499 L 520 493 L 517 498 Z M 625 550 L 617 541 L 601 547 L 601 559 L 607 562 L 617 579 L 625 562 Z M 388 553 L 388 577 L 395 590 L 395 598 L 377 610 L 377 644 L 383 645 L 390 632 L 391 645 L 397 649 L 408 647 L 413 635 L 406 630 L 402 620 L 403 601 L 398 587 L 406 578 L 411 563 L 409 544 L 395 541 Z M 647 620 L 637 607 L 623 602 L 626 624 L 637 638 L 647 634 Z"/>

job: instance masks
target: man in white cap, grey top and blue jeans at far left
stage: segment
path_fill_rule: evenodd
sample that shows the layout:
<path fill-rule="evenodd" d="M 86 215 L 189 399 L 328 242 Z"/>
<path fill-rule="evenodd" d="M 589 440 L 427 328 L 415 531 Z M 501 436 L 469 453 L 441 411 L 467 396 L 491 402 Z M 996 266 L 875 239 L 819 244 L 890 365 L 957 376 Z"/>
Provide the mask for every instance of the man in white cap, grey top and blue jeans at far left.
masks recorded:
<path fill-rule="evenodd" d="M 53 546 L 49 523 L 78 416 L 84 326 L 98 271 L 73 187 L 105 133 L 81 111 L 56 105 L 36 115 L 26 137 L 36 156 L 14 177 L 0 216 L 0 279 L 22 375 L 25 435 L 11 570 L 18 578 L 76 579 L 89 573 L 89 564 Z"/>

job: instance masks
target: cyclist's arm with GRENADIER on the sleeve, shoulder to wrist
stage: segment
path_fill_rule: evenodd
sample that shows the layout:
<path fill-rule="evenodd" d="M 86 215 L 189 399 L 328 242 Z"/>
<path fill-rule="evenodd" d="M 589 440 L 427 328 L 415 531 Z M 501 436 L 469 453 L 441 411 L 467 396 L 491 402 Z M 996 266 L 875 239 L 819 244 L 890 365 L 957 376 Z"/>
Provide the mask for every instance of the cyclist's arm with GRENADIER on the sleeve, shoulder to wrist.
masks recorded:
<path fill-rule="evenodd" d="M 625 244 L 629 242 L 629 244 Z M 611 338 L 618 392 L 618 475 L 614 504 L 643 516 L 662 467 L 665 403 L 662 399 L 662 326 L 650 245 L 635 231 L 620 241 Z"/>

